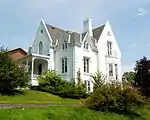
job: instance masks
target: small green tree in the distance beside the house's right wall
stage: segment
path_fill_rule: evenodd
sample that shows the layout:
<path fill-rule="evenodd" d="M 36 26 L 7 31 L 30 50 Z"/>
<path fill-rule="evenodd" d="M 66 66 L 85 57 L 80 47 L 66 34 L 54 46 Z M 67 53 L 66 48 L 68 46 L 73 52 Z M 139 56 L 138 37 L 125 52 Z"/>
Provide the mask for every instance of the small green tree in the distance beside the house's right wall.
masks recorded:
<path fill-rule="evenodd" d="M 122 76 L 123 82 L 128 82 L 129 84 L 133 85 L 135 82 L 135 72 L 125 72 Z"/>

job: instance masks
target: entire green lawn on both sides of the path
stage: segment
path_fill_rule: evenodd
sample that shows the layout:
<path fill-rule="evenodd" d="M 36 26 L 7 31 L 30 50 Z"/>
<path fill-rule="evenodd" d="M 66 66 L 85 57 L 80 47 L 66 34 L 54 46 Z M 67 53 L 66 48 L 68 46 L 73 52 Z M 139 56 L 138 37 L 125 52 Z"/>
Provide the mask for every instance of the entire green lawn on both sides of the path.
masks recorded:
<path fill-rule="evenodd" d="M 80 100 L 65 99 L 58 96 L 26 90 L 22 95 L 6 96 L 0 95 L 0 103 L 9 104 L 81 104 Z M 9 109 L 0 109 L 0 120 L 149 120 L 150 108 L 142 108 L 137 111 L 140 116 L 136 115 L 119 115 L 115 113 L 96 112 L 84 107 L 16 107 Z"/>

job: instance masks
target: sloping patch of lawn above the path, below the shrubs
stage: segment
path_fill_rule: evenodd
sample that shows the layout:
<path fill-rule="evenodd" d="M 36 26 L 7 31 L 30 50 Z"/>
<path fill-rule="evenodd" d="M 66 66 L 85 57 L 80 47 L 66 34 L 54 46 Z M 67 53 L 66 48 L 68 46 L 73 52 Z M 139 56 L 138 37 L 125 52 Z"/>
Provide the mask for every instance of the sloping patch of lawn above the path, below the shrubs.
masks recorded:
<path fill-rule="evenodd" d="M 46 92 L 34 90 L 26 90 L 22 95 L 0 95 L 0 103 L 10 104 L 80 104 L 80 102 L 80 100 L 61 98 Z"/>

